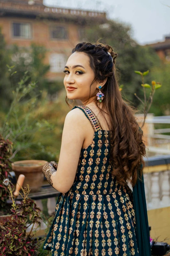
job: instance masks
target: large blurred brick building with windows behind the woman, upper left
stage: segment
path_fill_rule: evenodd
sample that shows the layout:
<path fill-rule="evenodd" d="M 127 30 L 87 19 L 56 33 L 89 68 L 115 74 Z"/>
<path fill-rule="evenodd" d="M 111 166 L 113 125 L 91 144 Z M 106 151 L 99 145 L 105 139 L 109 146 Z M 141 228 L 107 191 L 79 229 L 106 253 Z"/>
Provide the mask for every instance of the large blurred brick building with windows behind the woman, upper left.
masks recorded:
<path fill-rule="evenodd" d="M 7 46 L 44 45 L 49 80 L 64 77 L 66 58 L 92 23 L 106 23 L 106 13 L 47 7 L 43 0 L 0 0 L 0 26 Z"/>

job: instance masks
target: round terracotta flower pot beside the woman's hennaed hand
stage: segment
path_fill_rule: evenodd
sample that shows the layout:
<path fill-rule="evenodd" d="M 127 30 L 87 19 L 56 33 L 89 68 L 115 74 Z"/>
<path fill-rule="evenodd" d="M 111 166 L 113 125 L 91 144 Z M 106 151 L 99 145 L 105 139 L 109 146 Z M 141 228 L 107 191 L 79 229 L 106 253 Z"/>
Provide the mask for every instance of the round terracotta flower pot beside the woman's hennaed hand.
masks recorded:
<path fill-rule="evenodd" d="M 43 184 L 44 174 L 42 173 L 44 160 L 23 160 L 12 163 L 12 170 L 15 172 L 16 180 L 20 174 L 25 175 L 22 187 L 29 185 L 32 192 L 37 192 Z"/>

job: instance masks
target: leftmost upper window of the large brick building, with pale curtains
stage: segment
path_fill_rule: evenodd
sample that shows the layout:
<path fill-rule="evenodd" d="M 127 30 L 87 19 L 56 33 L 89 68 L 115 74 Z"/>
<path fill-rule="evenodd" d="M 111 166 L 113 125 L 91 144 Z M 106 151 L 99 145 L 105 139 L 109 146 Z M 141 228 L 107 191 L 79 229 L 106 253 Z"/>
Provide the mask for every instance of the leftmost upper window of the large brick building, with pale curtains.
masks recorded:
<path fill-rule="evenodd" d="M 21 38 L 31 38 L 32 37 L 31 24 L 14 22 L 13 36 L 21 37 Z"/>

